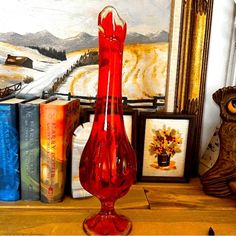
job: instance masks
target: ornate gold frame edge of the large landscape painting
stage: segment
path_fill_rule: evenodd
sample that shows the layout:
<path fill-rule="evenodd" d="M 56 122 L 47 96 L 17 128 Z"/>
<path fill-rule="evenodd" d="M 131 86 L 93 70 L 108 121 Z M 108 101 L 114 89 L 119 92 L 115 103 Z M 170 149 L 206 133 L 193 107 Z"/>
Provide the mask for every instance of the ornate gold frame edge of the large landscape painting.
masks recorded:
<path fill-rule="evenodd" d="M 213 0 L 187 0 L 182 18 L 175 112 L 196 116 L 191 175 L 198 174 Z"/>

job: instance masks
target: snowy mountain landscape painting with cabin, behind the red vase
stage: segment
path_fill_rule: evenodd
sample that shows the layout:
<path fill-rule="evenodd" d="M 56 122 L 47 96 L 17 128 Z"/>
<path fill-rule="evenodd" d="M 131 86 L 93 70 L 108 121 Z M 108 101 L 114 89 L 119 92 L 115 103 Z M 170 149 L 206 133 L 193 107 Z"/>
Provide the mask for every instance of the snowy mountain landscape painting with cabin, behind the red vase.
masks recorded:
<path fill-rule="evenodd" d="M 60 93 L 96 96 L 97 15 L 106 3 L 108 1 L 3 1 L 0 89 L 22 82 L 21 95 L 41 96 L 43 91 L 53 88 Z M 135 7 L 131 0 L 112 0 L 109 4 L 117 8 L 128 26 L 123 56 L 123 96 L 129 99 L 164 96 L 171 1 L 137 0 Z M 81 59 L 86 59 L 86 63 L 81 64 Z"/>

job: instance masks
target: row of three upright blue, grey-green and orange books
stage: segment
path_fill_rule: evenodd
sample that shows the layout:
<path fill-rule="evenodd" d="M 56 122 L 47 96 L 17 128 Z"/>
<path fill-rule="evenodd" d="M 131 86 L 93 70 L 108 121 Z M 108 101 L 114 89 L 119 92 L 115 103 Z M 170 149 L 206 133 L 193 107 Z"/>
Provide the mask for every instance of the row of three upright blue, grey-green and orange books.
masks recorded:
<path fill-rule="evenodd" d="M 79 99 L 0 101 L 0 200 L 63 199 L 79 115 Z"/>

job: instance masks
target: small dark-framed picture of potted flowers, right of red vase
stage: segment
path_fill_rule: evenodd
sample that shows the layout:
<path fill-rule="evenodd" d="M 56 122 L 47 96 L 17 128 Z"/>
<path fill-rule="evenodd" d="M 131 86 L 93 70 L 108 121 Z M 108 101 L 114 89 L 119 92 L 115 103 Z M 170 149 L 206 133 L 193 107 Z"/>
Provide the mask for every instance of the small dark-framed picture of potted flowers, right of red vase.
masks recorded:
<path fill-rule="evenodd" d="M 194 116 L 141 112 L 140 122 L 138 180 L 187 182 Z"/>

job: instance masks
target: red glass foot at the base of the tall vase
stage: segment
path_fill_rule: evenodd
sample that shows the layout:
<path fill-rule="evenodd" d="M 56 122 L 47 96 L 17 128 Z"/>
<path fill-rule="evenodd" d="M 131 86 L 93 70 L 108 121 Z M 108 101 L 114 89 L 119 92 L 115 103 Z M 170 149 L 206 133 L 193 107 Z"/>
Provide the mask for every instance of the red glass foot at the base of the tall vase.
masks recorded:
<path fill-rule="evenodd" d="M 83 229 L 88 235 L 127 235 L 132 222 L 124 215 L 98 213 L 84 220 Z"/>

